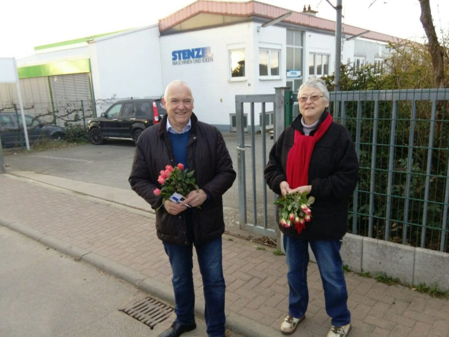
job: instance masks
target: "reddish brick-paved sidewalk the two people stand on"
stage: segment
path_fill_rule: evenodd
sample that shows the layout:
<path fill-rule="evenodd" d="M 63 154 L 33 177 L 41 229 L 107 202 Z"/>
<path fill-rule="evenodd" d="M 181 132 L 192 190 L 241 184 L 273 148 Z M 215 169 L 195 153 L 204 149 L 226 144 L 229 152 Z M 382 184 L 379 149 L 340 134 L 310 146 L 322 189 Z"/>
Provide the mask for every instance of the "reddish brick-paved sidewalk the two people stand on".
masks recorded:
<path fill-rule="evenodd" d="M 131 190 L 110 188 L 26 172 L 0 174 L 0 225 L 84 260 L 138 288 L 173 303 L 171 269 L 155 217 Z M 227 326 L 248 337 L 282 336 L 287 313 L 285 256 L 232 236 L 223 237 Z M 197 302 L 204 313 L 198 264 L 194 263 Z M 353 328 L 349 336 L 449 336 L 449 300 L 402 286 L 346 273 Z M 326 336 L 316 265 L 308 272 L 306 320 L 292 336 Z"/>

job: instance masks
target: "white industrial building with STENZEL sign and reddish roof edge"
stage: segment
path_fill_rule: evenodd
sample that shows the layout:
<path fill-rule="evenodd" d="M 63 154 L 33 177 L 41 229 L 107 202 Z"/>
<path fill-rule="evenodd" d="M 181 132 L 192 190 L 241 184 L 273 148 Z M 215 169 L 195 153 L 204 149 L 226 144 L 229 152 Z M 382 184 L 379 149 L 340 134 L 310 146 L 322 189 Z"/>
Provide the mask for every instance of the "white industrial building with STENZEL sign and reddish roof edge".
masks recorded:
<path fill-rule="evenodd" d="M 82 101 L 83 113 L 99 115 L 119 99 L 161 96 L 182 79 L 199 119 L 230 130 L 235 95 L 296 91 L 309 76 L 334 72 L 335 22 L 305 7 L 288 12 L 258 1 L 198 0 L 155 25 L 36 47 L 17 60 L 24 106 L 63 117 Z M 341 61 L 382 64 L 393 40 L 343 24 Z M 0 84 L 0 104 L 16 102 L 11 85 Z"/>

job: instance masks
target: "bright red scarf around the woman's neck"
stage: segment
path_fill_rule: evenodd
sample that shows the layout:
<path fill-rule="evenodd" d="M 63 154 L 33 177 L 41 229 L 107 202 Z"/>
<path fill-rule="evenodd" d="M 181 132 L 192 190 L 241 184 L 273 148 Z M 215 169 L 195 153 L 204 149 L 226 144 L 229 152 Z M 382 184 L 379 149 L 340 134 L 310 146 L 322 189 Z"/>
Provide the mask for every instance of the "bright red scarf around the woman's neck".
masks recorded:
<path fill-rule="evenodd" d="M 309 165 L 315 143 L 326 133 L 332 124 L 332 116 L 327 114 L 323 122 L 318 125 L 313 136 L 305 136 L 295 130 L 295 140 L 287 156 L 287 183 L 291 189 L 308 185 Z"/>

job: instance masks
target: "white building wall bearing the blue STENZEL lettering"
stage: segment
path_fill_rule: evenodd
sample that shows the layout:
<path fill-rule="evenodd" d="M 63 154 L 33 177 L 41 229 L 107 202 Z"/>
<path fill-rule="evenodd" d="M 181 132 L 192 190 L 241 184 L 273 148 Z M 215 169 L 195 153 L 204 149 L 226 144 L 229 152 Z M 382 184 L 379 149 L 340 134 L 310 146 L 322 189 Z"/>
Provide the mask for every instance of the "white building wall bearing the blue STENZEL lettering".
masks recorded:
<path fill-rule="evenodd" d="M 274 87 L 285 85 L 285 69 L 281 78 L 258 79 L 258 43 L 278 45 L 281 63 L 285 64 L 285 28 L 267 27 L 257 33 L 257 25 L 248 22 L 207 30 L 161 36 L 161 58 L 164 86 L 181 79 L 192 88 L 195 114 L 200 120 L 219 127 L 230 125 L 229 114 L 235 113 L 235 95 L 274 93 Z M 174 65 L 172 51 L 210 47 L 213 62 Z M 229 78 L 228 49 L 245 48 L 245 78 Z M 256 118 L 258 124 L 258 117 Z"/>

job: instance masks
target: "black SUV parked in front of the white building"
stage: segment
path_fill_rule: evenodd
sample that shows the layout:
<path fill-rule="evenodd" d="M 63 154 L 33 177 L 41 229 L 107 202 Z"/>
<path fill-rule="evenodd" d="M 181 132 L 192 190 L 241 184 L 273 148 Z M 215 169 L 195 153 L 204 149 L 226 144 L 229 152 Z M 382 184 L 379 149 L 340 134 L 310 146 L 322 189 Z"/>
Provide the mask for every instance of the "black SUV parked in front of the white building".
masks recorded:
<path fill-rule="evenodd" d="M 142 131 L 159 123 L 166 113 L 160 98 L 118 101 L 101 117 L 89 121 L 89 139 L 95 145 L 104 144 L 107 138 L 125 138 L 137 142 Z"/>

